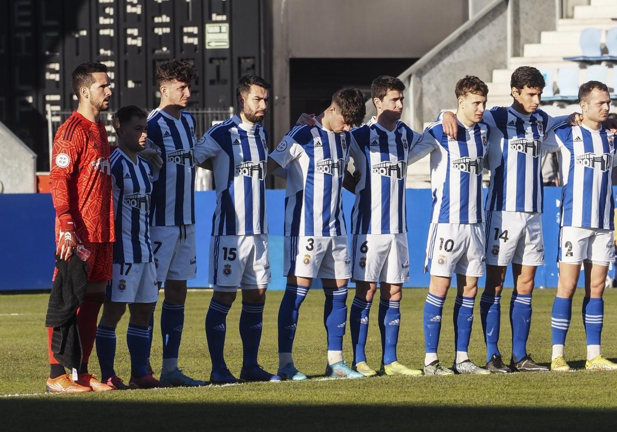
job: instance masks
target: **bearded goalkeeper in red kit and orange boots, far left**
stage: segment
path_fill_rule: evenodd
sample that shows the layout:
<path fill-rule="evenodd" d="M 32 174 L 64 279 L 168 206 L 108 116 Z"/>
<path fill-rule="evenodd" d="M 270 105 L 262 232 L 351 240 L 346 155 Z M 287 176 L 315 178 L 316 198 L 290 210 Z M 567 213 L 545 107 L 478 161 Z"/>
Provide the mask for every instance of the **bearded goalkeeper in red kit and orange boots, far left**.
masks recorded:
<path fill-rule="evenodd" d="M 99 310 L 107 281 L 112 278 L 114 208 L 107 131 L 99 119 L 109 109 L 112 95 L 106 65 L 85 63 L 71 76 L 77 110 L 60 126 L 54 138 L 49 185 L 56 209 L 57 259 L 70 260 L 82 244 L 89 257 L 86 293 L 77 312 L 82 360 L 77 380 L 66 375 L 52 353 L 53 328 L 48 328 L 50 373 L 48 391 L 80 393 L 112 389 L 88 373 Z M 78 259 L 76 256 L 73 259 Z M 56 278 L 57 268 L 54 271 Z"/>

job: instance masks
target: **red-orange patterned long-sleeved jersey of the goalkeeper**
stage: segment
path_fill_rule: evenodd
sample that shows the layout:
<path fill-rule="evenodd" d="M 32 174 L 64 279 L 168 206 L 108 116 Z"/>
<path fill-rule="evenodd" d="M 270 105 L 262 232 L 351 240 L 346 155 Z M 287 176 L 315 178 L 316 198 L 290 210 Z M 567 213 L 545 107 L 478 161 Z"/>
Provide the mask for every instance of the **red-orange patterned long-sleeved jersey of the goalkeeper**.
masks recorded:
<path fill-rule="evenodd" d="M 82 241 L 114 241 L 114 206 L 107 132 L 73 111 L 54 138 L 49 186 L 59 215 L 70 213 Z"/>

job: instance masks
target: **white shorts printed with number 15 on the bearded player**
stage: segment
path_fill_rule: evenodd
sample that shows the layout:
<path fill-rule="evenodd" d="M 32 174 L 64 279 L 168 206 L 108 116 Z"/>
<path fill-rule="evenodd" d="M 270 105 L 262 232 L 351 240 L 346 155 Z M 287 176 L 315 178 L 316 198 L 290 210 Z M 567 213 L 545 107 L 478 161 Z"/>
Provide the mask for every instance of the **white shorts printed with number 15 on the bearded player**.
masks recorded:
<path fill-rule="evenodd" d="M 212 236 L 209 263 L 208 281 L 215 291 L 265 288 L 270 282 L 268 235 Z"/>

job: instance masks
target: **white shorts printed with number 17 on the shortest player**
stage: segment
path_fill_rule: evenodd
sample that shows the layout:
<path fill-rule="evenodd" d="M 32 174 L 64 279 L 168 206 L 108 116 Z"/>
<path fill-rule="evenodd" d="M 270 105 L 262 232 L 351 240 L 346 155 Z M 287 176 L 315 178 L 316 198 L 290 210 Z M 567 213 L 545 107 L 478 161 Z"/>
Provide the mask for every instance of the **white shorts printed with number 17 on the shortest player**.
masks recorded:
<path fill-rule="evenodd" d="M 114 264 L 107 298 L 117 303 L 155 303 L 159 299 L 154 262 Z"/>

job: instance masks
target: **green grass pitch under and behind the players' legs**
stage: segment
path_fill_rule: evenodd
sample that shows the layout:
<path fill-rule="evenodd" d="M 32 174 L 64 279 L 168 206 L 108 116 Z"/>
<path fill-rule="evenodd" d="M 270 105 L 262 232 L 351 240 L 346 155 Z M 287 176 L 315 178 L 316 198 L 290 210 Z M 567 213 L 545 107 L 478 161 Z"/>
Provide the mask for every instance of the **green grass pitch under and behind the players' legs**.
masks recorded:
<path fill-rule="evenodd" d="M 500 349 L 510 357 L 508 310 L 511 290 L 502 299 Z M 260 363 L 275 372 L 276 315 L 282 292 L 271 291 L 265 307 Z M 180 367 L 189 376 L 207 380 L 210 358 L 204 317 L 210 291 L 189 293 L 180 348 Z M 426 289 L 407 289 L 402 302 L 399 361 L 420 368 L 424 356 L 422 310 Z M 451 292 L 444 307 L 440 358 L 453 358 Z M 529 352 L 550 362 L 550 310 L 555 290 L 534 293 Z M 312 379 L 305 382 L 245 383 L 203 388 L 114 391 L 102 394 L 44 393 L 48 373 L 43 328 L 48 296 L 0 296 L 0 430 L 616 430 L 617 372 L 517 373 L 507 376 L 377 377 L 325 380 L 323 294 L 310 291 L 300 310 L 294 344 L 297 367 Z M 348 304 L 353 293 L 350 292 Z M 581 322 L 582 290 L 576 293 L 566 357 L 584 368 L 585 336 Z M 240 301 L 228 316 L 226 359 L 239 374 Z M 381 355 L 377 307 L 371 312 L 368 363 L 377 368 Z M 470 355 L 484 363 L 484 342 L 476 301 L 476 323 Z M 160 307 L 157 309 L 160 317 Z M 125 331 L 118 326 L 116 370 L 128 382 L 130 367 Z M 344 355 L 351 362 L 349 331 Z M 160 367 L 160 331 L 155 328 L 152 363 Z M 603 352 L 617 357 L 617 290 L 605 294 Z M 99 373 L 96 352 L 91 372 Z"/>

